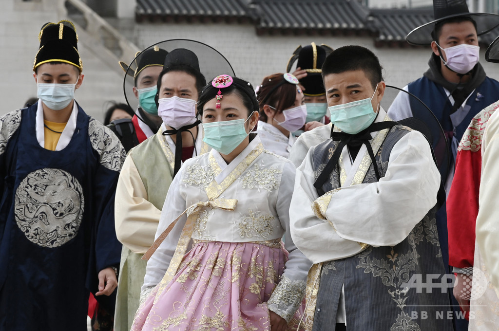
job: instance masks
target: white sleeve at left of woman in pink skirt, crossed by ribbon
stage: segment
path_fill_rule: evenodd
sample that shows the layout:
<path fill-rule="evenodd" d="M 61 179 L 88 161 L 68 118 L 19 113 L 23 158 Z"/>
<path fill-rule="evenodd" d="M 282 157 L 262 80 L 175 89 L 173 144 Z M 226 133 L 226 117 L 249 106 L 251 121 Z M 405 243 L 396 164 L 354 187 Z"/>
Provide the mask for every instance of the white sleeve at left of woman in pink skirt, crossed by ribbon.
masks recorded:
<path fill-rule="evenodd" d="M 156 230 L 155 240 L 165 231 L 165 229 L 186 209 L 186 200 L 183 196 L 180 185 L 183 173 L 183 167 L 173 178 L 168 193 L 166 195 L 165 203 L 161 211 L 158 229 Z M 170 265 L 170 261 L 175 253 L 177 244 L 179 242 L 182 230 L 187 221 L 187 216 L 183 215 L 177 221 L 172 231 L 168 234 L 165 240 L 160 244 L 158 249 L 147 261 L 146 275 L 144 277 L 144 285 L 141 291 L 149 287 L 156 286 L 161 282 L 165 273 Z"/>

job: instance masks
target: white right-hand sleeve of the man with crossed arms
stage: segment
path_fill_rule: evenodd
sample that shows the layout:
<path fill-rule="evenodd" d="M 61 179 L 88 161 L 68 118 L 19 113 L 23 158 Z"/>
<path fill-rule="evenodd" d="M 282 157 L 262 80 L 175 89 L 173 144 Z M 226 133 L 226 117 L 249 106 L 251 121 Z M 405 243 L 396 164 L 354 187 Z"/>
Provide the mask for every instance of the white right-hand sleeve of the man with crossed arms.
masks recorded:
<path fill-rule="evenodd" d="M 384 177 L 339 189 L 324 216 L 342 238 L 394 246 L 435 206 L 439 187 L 430 145 L 411 131 L 393 147 Z"/>

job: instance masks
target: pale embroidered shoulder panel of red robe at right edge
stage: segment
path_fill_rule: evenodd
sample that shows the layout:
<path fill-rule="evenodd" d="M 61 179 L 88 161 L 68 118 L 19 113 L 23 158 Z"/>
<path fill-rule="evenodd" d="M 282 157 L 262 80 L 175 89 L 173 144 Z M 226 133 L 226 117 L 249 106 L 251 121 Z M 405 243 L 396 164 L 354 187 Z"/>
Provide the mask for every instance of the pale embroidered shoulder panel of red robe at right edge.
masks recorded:
<path fill-rule="evenodd" d="M 484 138 L 487 122 L 498 108 L 499 102 L 493 103 L 473 118 L 459 143 L 458 151 L 478 152 L 482 148 L 482 139 Z"/>

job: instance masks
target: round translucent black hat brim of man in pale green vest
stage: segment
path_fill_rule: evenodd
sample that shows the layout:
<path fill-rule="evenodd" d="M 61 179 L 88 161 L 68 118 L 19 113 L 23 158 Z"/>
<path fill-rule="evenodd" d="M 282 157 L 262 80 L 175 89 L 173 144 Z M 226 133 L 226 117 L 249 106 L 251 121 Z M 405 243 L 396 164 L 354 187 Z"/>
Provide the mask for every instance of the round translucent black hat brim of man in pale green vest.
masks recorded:
<path fill-rule="evenodd" d="M 163 70 L 169 66 L 187 64 L 205 76 L 206 81 L 212 81 L 213 78 L 220 74 L 236 76 L 231 64 L 224 55 L 207 44 L 190 39 L 160 41 L 147 47 L 135 56 L 135 59 L 132 61 L 132 63 L 135 63 L 136 65 L 135 68 L 125 67 L 122 62 L 120 63 L 123 70 L 126 72 L 123 81 L 125 99 L 132 109 L 137 109 L 139 106 L 139 101 L 132 90 L 132 87 L 134 86 L 134 76 L 136 77 L 135 72 L 137 71 L 138 74 L 140 69 L 138 71 L 137 68 L 139 68 L 142 63 L 146 63 L 142 60 L 144 55 L 153 54 L 151 52 L 154 51 L 154 49 L 164 50 L 165 52 L 161 62 L 155 64 L 163 67 Z M 159 58 L 157 58 L 155 62 L 158 62 L 158 60 Z"/>

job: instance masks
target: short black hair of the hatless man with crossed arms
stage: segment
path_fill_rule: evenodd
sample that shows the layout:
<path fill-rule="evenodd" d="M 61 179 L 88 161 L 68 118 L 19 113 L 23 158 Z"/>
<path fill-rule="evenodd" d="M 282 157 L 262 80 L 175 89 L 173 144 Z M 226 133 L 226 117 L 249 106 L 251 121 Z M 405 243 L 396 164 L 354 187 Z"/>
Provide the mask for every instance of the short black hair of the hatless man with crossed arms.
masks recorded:
<path fill-rule="evenodd" d="M 362 70 L 373 88 L 383 80 L 379 59 L 372 51 L 362 46 L 343 46 L 329 54 L 322 65 L 322 78 L 329 74 Z"/>

